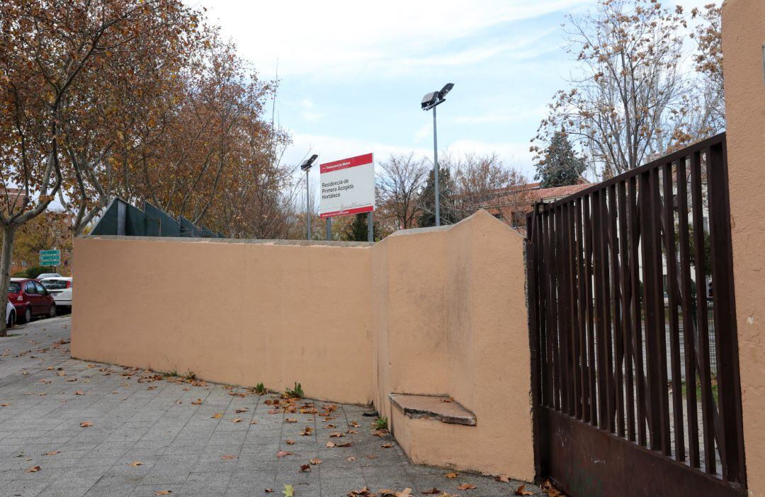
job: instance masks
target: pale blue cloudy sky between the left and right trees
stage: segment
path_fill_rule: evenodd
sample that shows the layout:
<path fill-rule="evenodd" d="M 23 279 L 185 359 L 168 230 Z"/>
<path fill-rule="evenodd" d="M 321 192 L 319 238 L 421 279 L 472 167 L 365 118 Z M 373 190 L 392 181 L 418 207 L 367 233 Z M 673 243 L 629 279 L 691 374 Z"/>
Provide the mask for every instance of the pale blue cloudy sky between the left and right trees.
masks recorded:
<path fill-rule="evenodd" d="M 704 2 L 682 2 L 685 6 Z M 574 69 L 561 24 L 587 0 L 192 0 L 260 76 L 281 82 L 275 116 L 321 162 L 373 152 L 432 155 L 425 93 L 438 107 L 439 150 L 496 152 L 533 176 L 529 139 Z"/>

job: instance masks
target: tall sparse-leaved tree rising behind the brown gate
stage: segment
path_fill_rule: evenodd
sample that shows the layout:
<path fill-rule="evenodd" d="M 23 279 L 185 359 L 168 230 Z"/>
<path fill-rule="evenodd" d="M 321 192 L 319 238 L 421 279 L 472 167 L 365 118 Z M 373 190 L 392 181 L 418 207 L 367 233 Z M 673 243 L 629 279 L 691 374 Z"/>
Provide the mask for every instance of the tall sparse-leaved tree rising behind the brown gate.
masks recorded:
<path fill-rule="evenodd" d="M 666 151 L 688 91 L 681 70 L 686 26 L 682 8 L 651 0 L 599 0 L 594 11 L 570 18 L 570 50 L 581 75 L 555 96 L 532 151 L 539 154 L 565 129 L 603 177 Z"/>

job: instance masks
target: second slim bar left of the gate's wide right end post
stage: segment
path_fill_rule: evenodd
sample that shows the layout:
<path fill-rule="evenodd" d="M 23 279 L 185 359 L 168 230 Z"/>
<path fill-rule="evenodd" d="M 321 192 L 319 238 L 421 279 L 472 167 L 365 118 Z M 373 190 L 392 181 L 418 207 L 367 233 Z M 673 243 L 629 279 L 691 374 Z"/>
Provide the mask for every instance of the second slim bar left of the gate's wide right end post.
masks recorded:
<path fill-rule="evenodd" d="M 692 159 L 698 164 L 698 153 Z M 688 243 L 688 177 L 685 158 L 676 164 L 678 234 L 680 252 L 680 291 L 682 303 L 682 340 L 685 348 L 685 406 L 688 413 L 688 463 L 692 468 L 700 466 L 698 456 L 698 412 L 696 404 L 696 353 L 692 315 L 691 257 Z M 693 164 L 691 167 L 695 167 Z"/>

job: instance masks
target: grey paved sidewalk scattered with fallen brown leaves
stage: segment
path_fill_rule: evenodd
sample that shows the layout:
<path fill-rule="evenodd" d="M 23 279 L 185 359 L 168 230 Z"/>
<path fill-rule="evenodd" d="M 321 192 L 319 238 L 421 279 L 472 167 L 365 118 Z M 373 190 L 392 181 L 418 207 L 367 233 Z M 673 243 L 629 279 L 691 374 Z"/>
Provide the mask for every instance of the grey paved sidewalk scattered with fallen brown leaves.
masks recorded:
<path fill-rule="evenodd" d="M 70 323 L 38 320 L 0 338 L 0 495 L 282 497 L 288 484 L 295 497 L 364 487 L 496 497 L 520 485 L 413 465 L 389 434 L 373 434 L 367 407 L 284 404 L 70 359 Z"/>

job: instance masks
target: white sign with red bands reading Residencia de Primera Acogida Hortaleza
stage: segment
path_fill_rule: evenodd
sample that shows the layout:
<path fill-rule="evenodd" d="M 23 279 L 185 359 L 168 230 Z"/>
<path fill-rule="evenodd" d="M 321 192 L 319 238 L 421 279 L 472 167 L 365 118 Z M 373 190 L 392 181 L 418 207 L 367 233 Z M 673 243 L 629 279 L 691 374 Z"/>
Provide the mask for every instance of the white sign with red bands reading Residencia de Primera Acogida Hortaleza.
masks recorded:
<path fill-rule="evenodd" d="M 375 210 L 375 163 L 364 154 L 321 164 L 321 217 Z"/>

